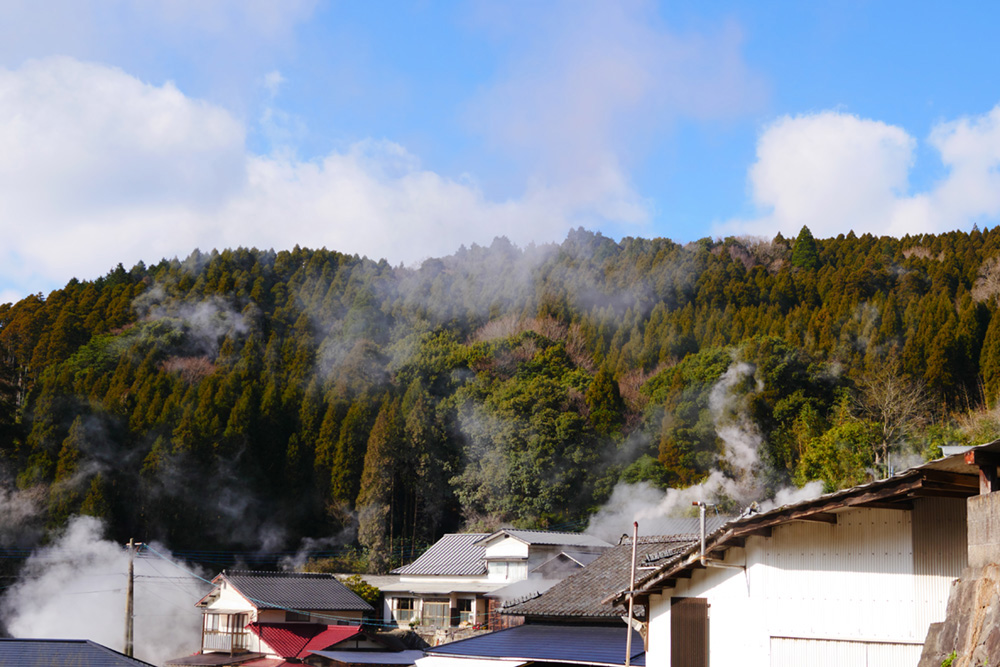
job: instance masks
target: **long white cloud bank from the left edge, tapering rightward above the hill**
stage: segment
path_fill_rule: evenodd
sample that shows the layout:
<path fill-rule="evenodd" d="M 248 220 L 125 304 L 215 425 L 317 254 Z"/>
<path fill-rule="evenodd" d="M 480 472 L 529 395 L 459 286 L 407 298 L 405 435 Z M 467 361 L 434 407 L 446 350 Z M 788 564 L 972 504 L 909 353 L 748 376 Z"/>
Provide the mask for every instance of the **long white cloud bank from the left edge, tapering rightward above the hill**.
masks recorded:
<path fill-rule="evenodd" d="M 495 235 L 556 238 L 589 205 L 545 188 L 493 201 L 387 141 L 315 161 L 252 155 L 231 114 L 169 83 L 70 58 L 0 69 L 5 294 L 195 247 L 412 262 Z"/>

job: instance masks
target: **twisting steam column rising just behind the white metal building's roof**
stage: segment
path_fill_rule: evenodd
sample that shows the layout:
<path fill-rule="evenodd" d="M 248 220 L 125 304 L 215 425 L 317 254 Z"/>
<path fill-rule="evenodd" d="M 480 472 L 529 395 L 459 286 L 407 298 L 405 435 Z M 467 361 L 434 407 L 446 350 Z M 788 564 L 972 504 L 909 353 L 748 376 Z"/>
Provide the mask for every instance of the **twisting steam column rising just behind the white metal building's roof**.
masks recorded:
<path fill-rule="evenodd" d="M 656 535 L 669 530 L 664 527 L 667 519 L 690 516 L 694 502 L 725 502 L 740 508 L 758 502 L 767 510 L 820 495 L 823 483 L 816 481 L 801 489 L 782 489 L 773 498 L 765 497 L 766 471 L 759 455 L 762 438 L 734 391 L 740 383 L 753 379 L 753 371 L 750 364 L 732 364 L 709 394 L 709 410 L 723 442 L 723 453 L 707 479 L 684 489 L 666 491 L 647 482 L 619 484 L 610 500 L 591 517 L 586 532 L 614 541 L 633 521 L 638 521 L 642 534 Z M 761 388 L 758 382 L 756 390 Z"/>

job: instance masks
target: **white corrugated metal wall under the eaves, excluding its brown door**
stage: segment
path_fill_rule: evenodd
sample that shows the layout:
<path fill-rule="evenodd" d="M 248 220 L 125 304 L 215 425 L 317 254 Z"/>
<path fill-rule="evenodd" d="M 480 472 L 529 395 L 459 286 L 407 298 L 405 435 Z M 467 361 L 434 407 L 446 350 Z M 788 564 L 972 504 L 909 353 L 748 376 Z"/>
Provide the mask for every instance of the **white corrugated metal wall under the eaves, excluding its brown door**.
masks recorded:
<path fill-rule="evenodd" d="M 965 501 L 857 508 L 750 536 L 649 598 L 647 665 L 670 665 L 671 598 L 708 601 L 713 664 L 916 665 L 965 566 Z M 745 566 L 745 567 L 744 567 Z"/>

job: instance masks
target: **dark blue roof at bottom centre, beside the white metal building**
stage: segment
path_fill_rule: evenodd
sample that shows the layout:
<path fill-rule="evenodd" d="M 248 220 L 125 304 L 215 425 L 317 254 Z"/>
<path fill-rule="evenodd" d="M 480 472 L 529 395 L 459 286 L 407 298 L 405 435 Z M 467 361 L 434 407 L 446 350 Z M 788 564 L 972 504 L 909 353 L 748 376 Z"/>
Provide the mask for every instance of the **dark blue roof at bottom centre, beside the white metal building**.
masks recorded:
<path fill-rule="evenodd" d="M 513 658 L 523 661 L 625 664 L 628 628 L 577 625 L 519 625 L 426 650 L 428 655 Z M 632 630 L 632 664 L 644 657 L 642 637 Z"/>

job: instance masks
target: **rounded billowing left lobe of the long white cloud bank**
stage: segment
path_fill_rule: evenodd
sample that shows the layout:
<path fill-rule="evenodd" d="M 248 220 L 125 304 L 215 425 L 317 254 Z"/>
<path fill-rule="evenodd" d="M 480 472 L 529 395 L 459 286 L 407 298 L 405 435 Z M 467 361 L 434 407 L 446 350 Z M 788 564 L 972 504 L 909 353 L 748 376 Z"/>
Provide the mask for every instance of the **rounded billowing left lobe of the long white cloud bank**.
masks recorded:
<path fill-rule="evenodd" d="M 69 58 L 0 69 L 0 275 L 48 285 L 190 242 L 178 223 L 223 207 L 245 170 L 241 125 L 169 83 Z"/>

